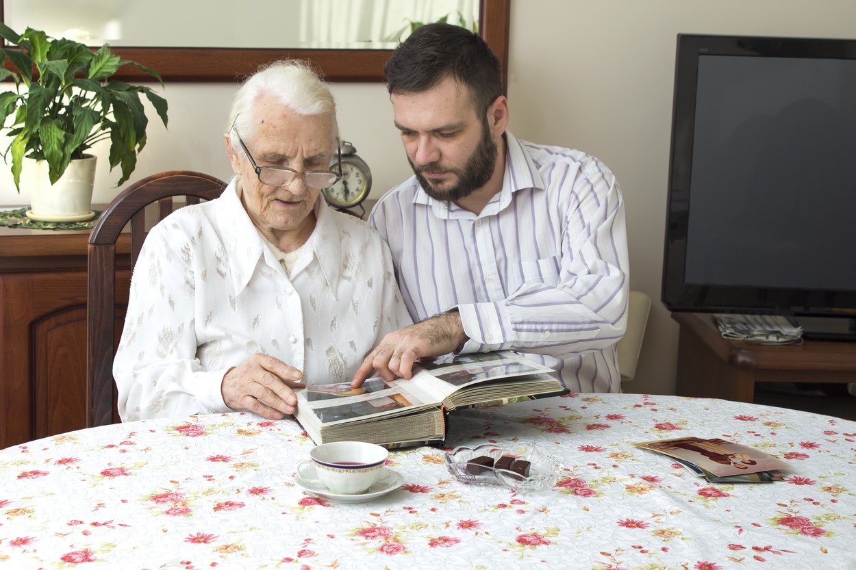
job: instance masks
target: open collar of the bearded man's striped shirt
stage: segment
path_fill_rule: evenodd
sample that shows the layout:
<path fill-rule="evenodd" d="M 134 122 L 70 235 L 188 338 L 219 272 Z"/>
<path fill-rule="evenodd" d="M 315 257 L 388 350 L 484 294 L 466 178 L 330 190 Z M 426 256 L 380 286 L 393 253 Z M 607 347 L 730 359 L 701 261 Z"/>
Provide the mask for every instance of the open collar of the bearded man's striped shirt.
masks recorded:
<path fill-rule="evenodd" d="M 494 196 L 490 203 L 484 206 L 484 210 L 480 216 L 490 216 L 502 211 L 511 204 L 511 196 L 513 193 L 524 190 L 526 188 L 544 189 L 544 180 L 538 172 L 538 166 L 532 161 L 532 157 L 526 151 L 522 141 L 518 140 L 510 131 L 505 131 L 505 170 L 502 175 L 502 190 L 498 196 Z M 417 184 L 419 181 L 415 179 Z M 441 218 L 455 217 L 456 211 L 463 212 L 468 215 L 473 215 L 455 204 L 443 200 L 436 200 L 425 193 L 425 190 L 420 186 L 413 195 L 413 204 L 421 204 L 431 206 L 435 216 Z"/>

